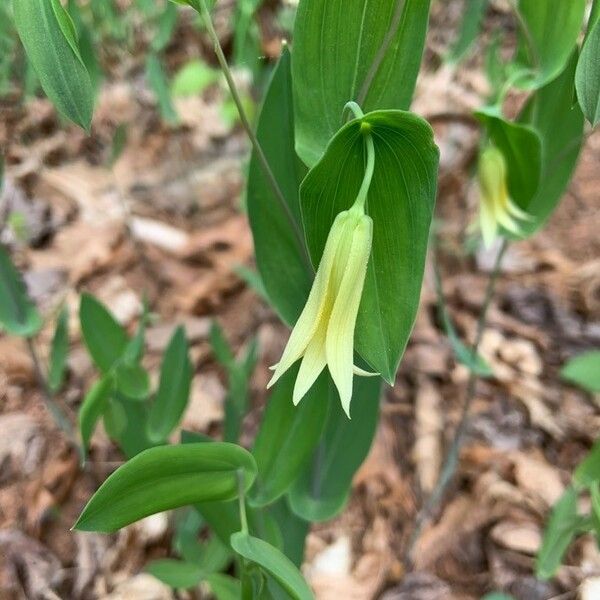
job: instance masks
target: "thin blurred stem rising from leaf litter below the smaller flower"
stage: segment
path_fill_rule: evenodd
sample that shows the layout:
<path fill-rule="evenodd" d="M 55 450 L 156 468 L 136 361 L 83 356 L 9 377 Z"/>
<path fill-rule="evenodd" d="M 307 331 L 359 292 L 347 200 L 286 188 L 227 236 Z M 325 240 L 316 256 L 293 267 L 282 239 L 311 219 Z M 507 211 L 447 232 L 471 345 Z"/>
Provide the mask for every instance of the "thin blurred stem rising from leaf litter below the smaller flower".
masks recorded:
<path fill-rule="evenodd" d="M 481 311 L 479 313 L 479 319 L 477 320 L 477 329 L 475 333 L 475 341 L 471 346 L 471 362 L 473 362 L 477 356 L 479 351 L 479 345 L 481 344 L 481 339 L 483 338 L 483 333 L 485 331 L 485 326 L 487 323 L 487 314 L 490 308 L 492 298 L 494 297 L 494 291 L 496 289 L 496 282 L 498 280 L 498 275 L 500 274 L 500 267 L 502 265 L 502 259 L 504 258 L 504 254 L 506 253 L 506 249 L 508 248 L 508 241 L 505 239 L 502 241 L 502 246 L 498 251 L 498 255 L 496 256 L 496 261 L 494 263 L 494 268 L 490 274 L 490 278 L 487 283 L 487 287 L 485 290 L 485 296 L 483 299 L 483 305 L 481 307 Z M 475 398 L 475 391 L 477 387 L 478 374 L 475 370 L 471 369 L 469 373 L 469 380 L 467 382 L 467 390 L 465 393 L 465 399 L 463 402 L 463 406 L 461 409 L 461 415 L 456 426 L 456 431 L 454 432 L 454 437 L 450 444 L 450 448 L 448 449 L 448 453 L 446 454 L 446 459 L 444 461 L 444 465 L 442 467 L 442 472 L 440 474 L 440 478 L 438 482 L 431 492 L 431 495 L 427 499 L 427 502 L 423 506 L 423 508 L 417 514 L 415 519 L 415 527 L 413 533 L 411 535 L 410 541 L 408 543 L 408 548 L 405 555 L 405 563 L 408 565 L 412 562 L 412 552 L 414 550 L 414 546 L 419 539 L 421 534 L 421 530 L 425 526 L 425 524 L 431 519 L 432 514 L 438 507 L 438 504 L 443 499 L 450 482 L 452 481 L 456 469 L 458 467 L 458 459 L 460 450 L 462 448 L 465 432 L 467 430 L 467 426 L 469 424 L 469 416 L 471 411 L 471 405 L 473 404 L 473 399 Z"/>

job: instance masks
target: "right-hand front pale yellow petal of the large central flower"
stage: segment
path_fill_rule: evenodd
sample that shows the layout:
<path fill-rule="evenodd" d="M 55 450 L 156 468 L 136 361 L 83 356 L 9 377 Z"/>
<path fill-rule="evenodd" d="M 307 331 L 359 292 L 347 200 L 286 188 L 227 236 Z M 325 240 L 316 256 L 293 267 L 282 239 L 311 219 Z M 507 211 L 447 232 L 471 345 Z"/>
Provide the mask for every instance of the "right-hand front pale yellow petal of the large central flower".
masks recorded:
<path fill-rule="evenodd" d="M 354 358 L 354 328 L 371 252 L 373 221 L 364 215 L 358 221 L 335 304 L 329 319 L 325 352 L 342 408 L 350 418 Z"/>

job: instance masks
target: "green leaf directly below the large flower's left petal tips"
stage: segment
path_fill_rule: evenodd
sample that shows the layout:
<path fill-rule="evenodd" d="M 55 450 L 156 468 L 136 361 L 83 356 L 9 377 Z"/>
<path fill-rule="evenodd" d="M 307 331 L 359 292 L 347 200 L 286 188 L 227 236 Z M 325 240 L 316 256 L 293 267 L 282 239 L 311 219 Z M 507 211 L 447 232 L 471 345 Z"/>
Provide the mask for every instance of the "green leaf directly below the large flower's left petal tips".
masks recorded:
<path fill-rule="evenodd" d="M 250 502 L 271 504 L 292 484 L 317 445 L 327 416 L 328 379 L 322 373 L 299 406 L 292 403 L 298 368 L 291 369 L 268 400 L 252 454 L 258 477 Z M 274 452 L 273 449 L 277 448 Z"/>

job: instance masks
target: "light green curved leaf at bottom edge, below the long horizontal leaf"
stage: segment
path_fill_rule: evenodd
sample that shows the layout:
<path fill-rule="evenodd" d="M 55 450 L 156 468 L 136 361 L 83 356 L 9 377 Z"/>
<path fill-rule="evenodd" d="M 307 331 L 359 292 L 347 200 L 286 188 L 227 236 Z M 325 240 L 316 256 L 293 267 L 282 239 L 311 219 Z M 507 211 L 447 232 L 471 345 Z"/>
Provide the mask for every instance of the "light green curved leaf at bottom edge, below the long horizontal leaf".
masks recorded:
<path fill-rule="evenodd" d="M 271 544 L 240 531 L 231 536 L 231 545 L 240 556 L 257 564 L 273 576 L 291 598 L 314 599 L 313 593 L 296 565 Z"/>

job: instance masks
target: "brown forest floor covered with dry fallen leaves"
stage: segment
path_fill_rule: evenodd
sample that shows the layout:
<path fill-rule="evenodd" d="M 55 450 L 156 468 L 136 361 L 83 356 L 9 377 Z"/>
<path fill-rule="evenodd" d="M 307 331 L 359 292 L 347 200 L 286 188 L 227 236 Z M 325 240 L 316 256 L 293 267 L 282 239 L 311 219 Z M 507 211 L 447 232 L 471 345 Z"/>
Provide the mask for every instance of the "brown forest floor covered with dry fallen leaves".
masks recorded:
<path fill-rule="evenodd" d="M 457 69 L 438 66 L 455 18 L 449 9 L 433 13 L 413 110 L 431 120 L 441 149 L 435 258 L 451 318 L 469 341 L 494 251 L 464 251 L 478 144 L 464 116 L 481 104 L 486 85 L 476 56 Z M 202 52 L 212 60 L 206 44 Z M 0 105 L 6 160 L 0 239 L 45 314 L 62 302 L 70 308 L 61 401 L 72 414 L 94 378 L 77 321 L 79 295 L 95 294 L 132 331 L 145 294 L 157 315 L 147 335 L 151 372 L 177 324 L 191 340 L 195 375 L 186 429 L 218 436 L 223 421 L 225 377 L 208 341 L 211 321 L 218 320 L 235 348 L 257 336 L 260 358 L 243 439 L 256 431 L 267 367 L 287 332 L 239 275 L 240 265 L 253 267 L 242 208 L 247 142 L 222 117 L 225 97 L 213 86 L 178 100 L 181 123 L 167 127 L 143 73 L 133 69 L 104 84 L 91 137 L 59 123 L 46 100 Z M 121 124 L 126 145 L 109 167 Z M 467 379 L 437 317 L 429 257 L 417 323 L 396 385 L 386 389 L 351 501 L 309 535 L 304 572 L 319 600 L 477 599 L 492 590 L 549 600 L 577 597 L 583 582 L 599 585 L 600 551 L 590 536 L 572 546 L 554 579 L 534 577 L 549 507 L 600 434 L 598 398 L 559 378 L 569 357 L 600 346 L 599 164 L 595 134 L 547 227 L 509 248 L 481 345 L 494 376 L 477 387 L 456 477 L 407 571 L 414 517 L 439 475 Z M 15 212 L 24 218 L 24 238 L 7 224 Z M 48 327 L 40 336 L 43 356 L 51 334 Z M 111 536 L 70 531 L 120 460 L 99 428 L 91 460 L 79 466 L 46 412 L 26 346 L 0 334 L 0 598 L 175 597 L 140 574 L 149 558 L 168 555 L 166 516 Z"/>

